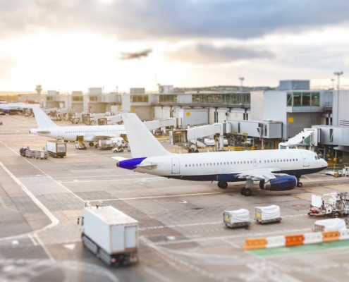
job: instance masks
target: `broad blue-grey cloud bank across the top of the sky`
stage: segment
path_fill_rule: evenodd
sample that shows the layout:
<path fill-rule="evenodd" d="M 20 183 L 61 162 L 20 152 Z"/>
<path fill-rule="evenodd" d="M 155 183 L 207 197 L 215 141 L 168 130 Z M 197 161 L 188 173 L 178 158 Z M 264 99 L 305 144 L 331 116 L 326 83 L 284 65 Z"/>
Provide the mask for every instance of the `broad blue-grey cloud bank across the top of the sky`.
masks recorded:
<path fill-rule="evenodd" d="M 343 0 L 0 0 L 0 35 L 94 31 L 124 40 L 262 37 L 348 25 Z"/>

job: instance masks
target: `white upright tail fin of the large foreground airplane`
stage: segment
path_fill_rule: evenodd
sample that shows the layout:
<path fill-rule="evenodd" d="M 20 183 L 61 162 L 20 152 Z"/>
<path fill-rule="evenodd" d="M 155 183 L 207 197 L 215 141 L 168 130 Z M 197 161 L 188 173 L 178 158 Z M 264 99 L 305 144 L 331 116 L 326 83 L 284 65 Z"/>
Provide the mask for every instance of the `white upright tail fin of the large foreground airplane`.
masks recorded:
<path fill-rule="evenodd" d="M 162 147 L 157 138 L 150 133 L 149 129 L 135 114 L 125 113 L 122 116 L 133 158 L 171 154 Z"/>

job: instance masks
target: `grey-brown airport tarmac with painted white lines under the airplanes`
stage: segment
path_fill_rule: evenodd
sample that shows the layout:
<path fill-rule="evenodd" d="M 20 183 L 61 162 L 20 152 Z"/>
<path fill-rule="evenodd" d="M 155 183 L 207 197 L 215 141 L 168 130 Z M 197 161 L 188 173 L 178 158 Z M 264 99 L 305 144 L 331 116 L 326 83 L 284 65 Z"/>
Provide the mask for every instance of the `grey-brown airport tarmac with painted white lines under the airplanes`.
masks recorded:
<path fill-rule="evenodd" d="M 302 188 L 269 192 L 245 183 L 221 190 L 216 183 L 171 180 L 116 168 L 130 157 L 68 143 L 62 158 L 20 157 L 23 145 L 42 149 L 31 135 L 35 118 L 1 116 L 0 281 L 348 281 L 349 240 L 302 248 L 252 252 L 245 238 L 311 232 L 311 195 L 348 191 L 348 178 L 302 176 Z M 59 125 L 66 124 L 57 122 Z M 78 125 L 77 125 L 78 126 Z M 169 142 L 161 141 L 166 149 Z M 85 201 L 102 201 L 140 222 L 140 261 L 111 268 L 82 246 L 77 219 Z M 252 219 L 257 206 L 276 204 L 281 223 Z M 230 229 L 224 210 L 250 211 L 250 228 Z"/>

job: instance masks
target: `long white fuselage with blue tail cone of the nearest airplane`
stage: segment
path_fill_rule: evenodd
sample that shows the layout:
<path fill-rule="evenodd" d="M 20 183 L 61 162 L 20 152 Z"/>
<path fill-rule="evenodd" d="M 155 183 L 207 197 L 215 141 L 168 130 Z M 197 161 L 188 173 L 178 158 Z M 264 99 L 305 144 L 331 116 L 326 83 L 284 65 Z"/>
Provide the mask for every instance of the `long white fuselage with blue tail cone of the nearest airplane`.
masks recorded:
<path fill-rule="evenodd" d="M 136 161 L 137 160 L 137 161 Z M 166 178 L 234 182 L 243 171 L 268 169 L 300 177 L 327 167 L 326 161 L 305 149 L 169 154 L 119 161 L 118 166 Z"/>

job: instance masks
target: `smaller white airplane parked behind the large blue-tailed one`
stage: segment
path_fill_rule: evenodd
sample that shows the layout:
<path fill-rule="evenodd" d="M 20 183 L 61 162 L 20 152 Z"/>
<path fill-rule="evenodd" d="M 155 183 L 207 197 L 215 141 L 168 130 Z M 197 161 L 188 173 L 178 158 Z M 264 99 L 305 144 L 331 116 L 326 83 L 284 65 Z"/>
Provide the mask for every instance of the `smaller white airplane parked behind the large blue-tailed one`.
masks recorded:
<path fill-rule="evenodd" d="M 79 137 L 94 146 L 93 142 L 114 137 L 120 137 L 125 134 L 124 125 L 84 125 L 84 126 L 59 126 L 56 125 L 47 114 L 38 106 L 33 107 L 35 119 L 37 121 L 36 129 L 30 129 L 29 133 L 52 137 L 57 140 L 76 141 Z"/>

